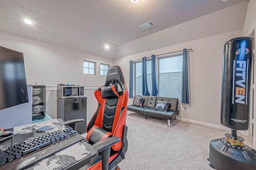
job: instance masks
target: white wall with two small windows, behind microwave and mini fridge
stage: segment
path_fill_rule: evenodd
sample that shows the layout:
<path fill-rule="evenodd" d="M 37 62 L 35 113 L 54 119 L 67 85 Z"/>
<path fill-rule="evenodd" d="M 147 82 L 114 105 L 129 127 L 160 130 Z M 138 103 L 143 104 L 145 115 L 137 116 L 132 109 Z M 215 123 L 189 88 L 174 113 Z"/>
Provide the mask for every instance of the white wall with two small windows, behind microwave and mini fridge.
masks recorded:
<path fill-rule="evenodd" d="M 56 86 L 58 83 L 77 83 L 86 86 L 87 120 L 97 109 L 94 89 L 104 84 L 100 63 L 113 65 L 106 59 L 82 51 L 61 47 L 1 31 L 0 45 L 24 54 L 27 84 L 46 85 L 46 107 L 52 118 L 57 117 Z M 97 62 L 96 75 L 83 74 L 83 61 Z"/>

